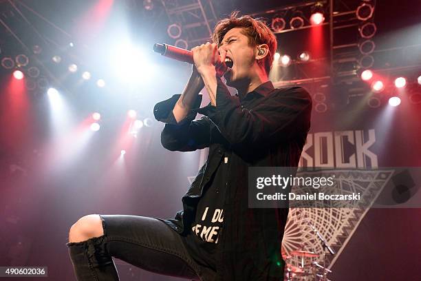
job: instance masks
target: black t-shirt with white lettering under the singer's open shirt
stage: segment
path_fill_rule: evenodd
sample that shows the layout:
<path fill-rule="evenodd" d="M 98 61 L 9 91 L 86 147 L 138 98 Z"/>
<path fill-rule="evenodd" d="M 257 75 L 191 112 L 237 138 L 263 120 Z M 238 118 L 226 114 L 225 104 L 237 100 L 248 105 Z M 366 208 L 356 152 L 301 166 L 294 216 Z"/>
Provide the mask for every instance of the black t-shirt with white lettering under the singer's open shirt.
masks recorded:
<path fill-rule="evenodd" d="M 204 187 L 196 207 L 195 221 L 184 242 L 193 259 L 211 269 L 216 268 L 215 250 L 224 222 L 224 198 L 228 180 L 229 156 L 222 157 L 213 179 Z"/>

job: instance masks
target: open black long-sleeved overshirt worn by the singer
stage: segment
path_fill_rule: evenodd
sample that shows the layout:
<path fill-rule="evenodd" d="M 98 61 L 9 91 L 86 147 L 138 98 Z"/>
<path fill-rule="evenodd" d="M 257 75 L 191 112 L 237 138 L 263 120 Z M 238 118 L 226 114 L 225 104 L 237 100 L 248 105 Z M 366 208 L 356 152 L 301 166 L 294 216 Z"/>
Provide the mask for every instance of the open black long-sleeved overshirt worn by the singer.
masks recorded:
<path fill-rule="evenodd" d="M 270 81 L 244 96 L 231 96 L 218 79 L 216 107 L 195 107 L 176 123 L 173 107 L 180 95 L 155 105 L 154 114 L 165 124 L 162 145 L 172 151 L 209 147 L 206 163 L 182 197 L 183 210 L 163 220 L 183 235 L 195 218 L 202 189 L 215 173 L 224 153 L 230 154 L 224 204 L 224 225 L 219 233 L 217 279 L 227 281 L 283 280 L 281 256 L 288 209 L 248 208 L 248 167 L 296 167 L 310 129 L 312 99 L 302 87 L 274 89 Z M 202 118 L 193 121 L 197 112 Z M 215 280 L 206 272 L 204 281 Z"/>

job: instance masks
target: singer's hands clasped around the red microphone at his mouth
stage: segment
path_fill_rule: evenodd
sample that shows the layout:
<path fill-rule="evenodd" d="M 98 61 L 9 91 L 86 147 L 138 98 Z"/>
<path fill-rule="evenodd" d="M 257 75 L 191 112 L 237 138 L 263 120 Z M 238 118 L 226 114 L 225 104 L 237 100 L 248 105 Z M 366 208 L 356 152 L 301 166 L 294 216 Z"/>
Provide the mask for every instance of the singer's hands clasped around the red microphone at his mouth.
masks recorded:
<path fill-rule="evenodd" d="M 207 42 L 191 50 L 197 72 L 200 75 L 215 74 L 221 77 L 228 69 L 225 65 L 226 52 L 224 50 L 219 51 L 217 44 Z"/>

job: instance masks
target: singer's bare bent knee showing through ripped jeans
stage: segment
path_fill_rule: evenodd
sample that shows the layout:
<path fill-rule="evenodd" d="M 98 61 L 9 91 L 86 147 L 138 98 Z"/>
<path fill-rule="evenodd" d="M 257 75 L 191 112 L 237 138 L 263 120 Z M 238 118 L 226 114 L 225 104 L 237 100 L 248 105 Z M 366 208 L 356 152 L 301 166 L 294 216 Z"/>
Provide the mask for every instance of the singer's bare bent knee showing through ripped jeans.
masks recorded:
<path fill-rule="evenodd" d="M 104 235 L 102 220 L 99 215 L 87 215 L 70 227 L 69 242 L 82 242 L 89 238 Z"/>

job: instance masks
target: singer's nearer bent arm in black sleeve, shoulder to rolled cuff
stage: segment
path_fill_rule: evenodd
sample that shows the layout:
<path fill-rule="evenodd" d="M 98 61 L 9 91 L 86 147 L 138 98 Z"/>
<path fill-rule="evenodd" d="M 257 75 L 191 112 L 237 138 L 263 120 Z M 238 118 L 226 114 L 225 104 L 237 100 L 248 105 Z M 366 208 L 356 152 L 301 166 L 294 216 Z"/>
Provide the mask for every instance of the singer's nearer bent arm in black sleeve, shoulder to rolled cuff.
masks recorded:
<path fill-rule="evenodd" d="M 217 78 L 216 106 L 199 110 L 215 123 L 231 145 L 252 146 L 288 141 L 310 129 L 312 99 L 302 87 L 274 90 L 247 109 Z"/>

